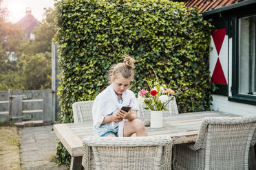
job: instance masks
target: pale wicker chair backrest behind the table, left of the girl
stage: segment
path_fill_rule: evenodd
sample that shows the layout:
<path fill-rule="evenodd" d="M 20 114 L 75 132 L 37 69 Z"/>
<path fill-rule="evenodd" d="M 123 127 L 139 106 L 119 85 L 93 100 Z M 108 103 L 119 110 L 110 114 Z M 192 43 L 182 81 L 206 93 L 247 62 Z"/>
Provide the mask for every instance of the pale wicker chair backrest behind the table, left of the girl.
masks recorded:
<path fill-rule="evenodd" d="M 92 104 L 94 101 L 78 101 L 72 104 L 74 123 L 92 121 Z"/>

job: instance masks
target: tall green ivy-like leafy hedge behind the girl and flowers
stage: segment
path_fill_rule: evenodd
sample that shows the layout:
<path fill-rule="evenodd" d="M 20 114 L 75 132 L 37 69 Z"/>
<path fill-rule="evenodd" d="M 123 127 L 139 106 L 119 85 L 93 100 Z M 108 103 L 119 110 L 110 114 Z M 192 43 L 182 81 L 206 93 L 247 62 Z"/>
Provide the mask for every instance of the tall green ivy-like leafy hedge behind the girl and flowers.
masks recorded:
<path fill-rule="evenodd" d="M 179 112 L 209 110 L 211 25 L 198 10 L 166 0 L 62 0 L 56 14 L 62 123 L 73 121 L 74 102 L 92 100 L 107 86 L 106 70 L 125 53 L 136 60 L 135 93 L 154 77 L 150 64 L 162 82 L 186 84 Z"/>

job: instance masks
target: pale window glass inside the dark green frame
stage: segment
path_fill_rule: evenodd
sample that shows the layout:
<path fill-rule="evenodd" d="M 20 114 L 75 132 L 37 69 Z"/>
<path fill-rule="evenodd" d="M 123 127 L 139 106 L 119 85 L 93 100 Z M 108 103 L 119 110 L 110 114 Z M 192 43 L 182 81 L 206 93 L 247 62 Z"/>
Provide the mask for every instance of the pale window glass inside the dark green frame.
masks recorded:
<path fill-rule="evenodd" d="M 256 96 L 256 15 L 239 19 L 238 93 Z"/>

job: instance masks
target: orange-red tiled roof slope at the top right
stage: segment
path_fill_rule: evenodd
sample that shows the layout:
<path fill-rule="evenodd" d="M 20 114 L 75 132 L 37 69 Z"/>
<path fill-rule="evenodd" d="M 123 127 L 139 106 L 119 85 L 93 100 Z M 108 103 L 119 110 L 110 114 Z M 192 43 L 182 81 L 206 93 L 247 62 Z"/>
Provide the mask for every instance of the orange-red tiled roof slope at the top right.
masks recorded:
<path fill-rule="evenodd" d="M 247 0 L 184 0 L 183 2 L 186 6 L 198 7 L 199 12 L 206 12 L 242 1 Z"/>

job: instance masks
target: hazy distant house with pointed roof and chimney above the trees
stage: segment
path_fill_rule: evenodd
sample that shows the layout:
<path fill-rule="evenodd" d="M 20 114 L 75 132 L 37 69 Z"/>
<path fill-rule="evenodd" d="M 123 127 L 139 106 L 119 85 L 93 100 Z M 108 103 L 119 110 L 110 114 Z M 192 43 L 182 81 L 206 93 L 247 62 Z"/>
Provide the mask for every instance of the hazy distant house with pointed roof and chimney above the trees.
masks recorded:
<path fill-rule="evenodd" d="M 36 26 L 39 25 L 39 21 L 37 21 L 36 18 L 34 18 L 31 12 L 31 8 L 26 8 L 25 16 L 17 22 L 18 25 L 25 29 L 26 39 L 34 39 L 34 34 L 32 34 L 32 31 Z"/>

